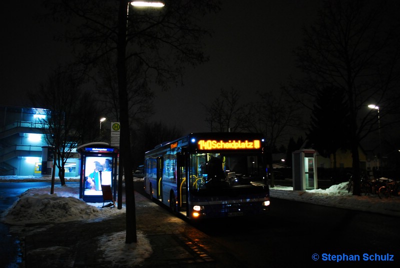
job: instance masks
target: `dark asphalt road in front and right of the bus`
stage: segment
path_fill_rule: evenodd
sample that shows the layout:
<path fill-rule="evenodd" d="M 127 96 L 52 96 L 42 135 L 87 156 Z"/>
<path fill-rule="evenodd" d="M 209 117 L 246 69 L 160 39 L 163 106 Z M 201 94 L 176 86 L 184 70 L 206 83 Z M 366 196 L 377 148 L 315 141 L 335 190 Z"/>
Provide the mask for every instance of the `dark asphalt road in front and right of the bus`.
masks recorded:
<path fill-rule="evenodd" d="M 135 190 L 146 195 L 142 189 L 135 183 Z M 270 211 L 263 216 L 190 224 L 248 267 L 400 264 L 400 218 L 394 216 L 271 198 Z M 360 260 L 339 264 L 329 254 L 358 255 Z M 376 260 L 386 256 L 392 260 Z"/>

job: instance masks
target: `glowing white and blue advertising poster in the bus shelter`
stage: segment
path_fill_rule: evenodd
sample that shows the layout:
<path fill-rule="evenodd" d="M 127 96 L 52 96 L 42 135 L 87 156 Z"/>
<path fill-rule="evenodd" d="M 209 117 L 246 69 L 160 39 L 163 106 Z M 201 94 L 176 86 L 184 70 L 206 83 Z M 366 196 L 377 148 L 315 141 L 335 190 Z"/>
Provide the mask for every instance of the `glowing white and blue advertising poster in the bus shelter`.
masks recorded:
<path fill-rule="evenodd" d="M 84 195 L 102 195 L 101 185 L 111 185 L 112 157 L 86 156 L 84 166 Z"/>

